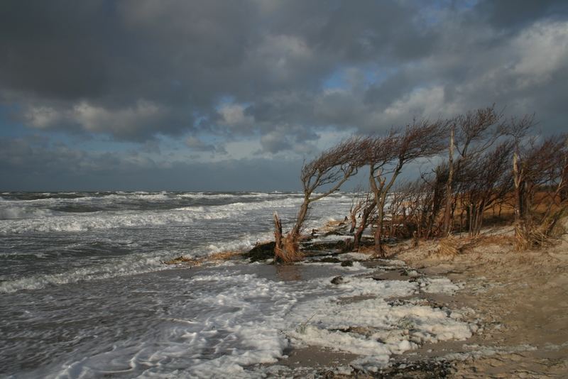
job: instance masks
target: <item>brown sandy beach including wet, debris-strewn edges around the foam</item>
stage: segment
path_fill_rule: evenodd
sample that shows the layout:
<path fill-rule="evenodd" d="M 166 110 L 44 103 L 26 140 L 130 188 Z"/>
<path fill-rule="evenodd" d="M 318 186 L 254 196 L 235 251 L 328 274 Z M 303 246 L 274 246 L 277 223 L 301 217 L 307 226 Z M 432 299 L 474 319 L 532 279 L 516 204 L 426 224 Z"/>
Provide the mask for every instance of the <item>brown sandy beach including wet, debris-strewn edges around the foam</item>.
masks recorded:
<path fill-rule="evenodd" d="M 293 378 L 565 378 L 568 375 L 568 238 L 538 251 L 513 251 L 510 228 L 458 239 L 457 256 L 438 253 L 438 241 L 391 246 L 389 259 L 407 266 L 365 274 L 376 280 L 447 278 L 454 293 L 420 291 L 391 302 L 427 304 L 461 312 L 478 326 L 467 339 L 422 344 L 391 356 L 388 367 L 369 370 L 342 347 L 293 348 L 273 366 L 273 376 Z M 459 238 L 459 237 L 458 237 Z M 367 267 L 379 265 L 369 260 Z M 384 265 L 388 263 L 380 263 Z M 293 266 L 287 268 L 293 272 Z M 410 278 L 409 278 L 410 275 Z M 350 299 L 357 302 L 368 297 Z M 347 320 L 346 320 L 347 321 Z M 351 333 L 371 328 L 352 325 Z M 270 370 L 269 370 L 270 372 Z"/>

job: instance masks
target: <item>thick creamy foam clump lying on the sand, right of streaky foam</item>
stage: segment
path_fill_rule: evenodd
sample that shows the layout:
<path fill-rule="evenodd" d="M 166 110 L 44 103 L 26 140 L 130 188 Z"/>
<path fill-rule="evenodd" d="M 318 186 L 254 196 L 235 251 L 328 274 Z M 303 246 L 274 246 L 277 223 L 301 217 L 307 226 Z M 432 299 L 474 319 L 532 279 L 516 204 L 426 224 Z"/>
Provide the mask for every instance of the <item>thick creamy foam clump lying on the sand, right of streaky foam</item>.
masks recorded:
<path fill-rule="evenodd" d="M 337 286 L 342 296 L 376 298 L 341 302 L 327 296 L 302 302 L 293 309 L 297 327 L 288 334 L 300 344 L 371 356 L 356 362 L 371 371 L 385 366 L 393 354 L 419 344 L 471 336 L 475 326 L 461 321 L 459 314 L 411 303 L 391 305 L 385 300 L 413 295 L 417 287 L 413 282 L 348 278 L 348 282 Z M 352 331 L 354 327 L 359 329 Z"/>

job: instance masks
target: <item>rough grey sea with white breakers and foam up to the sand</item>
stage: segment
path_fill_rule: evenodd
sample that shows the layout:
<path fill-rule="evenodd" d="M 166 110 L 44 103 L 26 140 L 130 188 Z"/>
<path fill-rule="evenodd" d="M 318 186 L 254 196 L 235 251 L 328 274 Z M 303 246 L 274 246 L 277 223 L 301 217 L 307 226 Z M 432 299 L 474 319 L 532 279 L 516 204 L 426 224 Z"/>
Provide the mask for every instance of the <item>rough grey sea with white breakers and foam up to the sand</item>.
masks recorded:
<path fill-rule="evenodd" d="M 344 219 L 351 199 L 315 202 L 307 229 Z M 164 263 L 247 251 L 273 238 L 273 212 L 290 228 L 301 202 L 297 192 L 0 193 L 0 377 L 266 378 L 304 344 L 344 346 L 380 366 L 417 346 L 396 326 L 409 314 L 444 339 L 471 335 L 448 312 L 384 301 L 455 290 L 448 282 L 379 282 L 357 262 Z M 334 286 L 336 275 L 351 280 Z M 370 294 L 381 296 L 337 302 Z M 346 318 L 382 322 L 389 337 L 338 334 Z"/>

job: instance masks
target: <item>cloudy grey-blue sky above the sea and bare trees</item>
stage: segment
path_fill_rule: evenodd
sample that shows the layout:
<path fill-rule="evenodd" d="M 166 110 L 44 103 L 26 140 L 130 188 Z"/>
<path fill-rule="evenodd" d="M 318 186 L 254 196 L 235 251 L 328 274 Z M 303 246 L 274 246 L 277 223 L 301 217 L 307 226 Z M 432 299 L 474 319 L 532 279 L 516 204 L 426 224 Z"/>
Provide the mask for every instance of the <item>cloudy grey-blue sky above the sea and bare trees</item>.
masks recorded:
<path fill-rule="evenodd" d="M 353 134 L 568 132 L 565 0 L 0 2 L 0 190 L 297 190 Z"/>

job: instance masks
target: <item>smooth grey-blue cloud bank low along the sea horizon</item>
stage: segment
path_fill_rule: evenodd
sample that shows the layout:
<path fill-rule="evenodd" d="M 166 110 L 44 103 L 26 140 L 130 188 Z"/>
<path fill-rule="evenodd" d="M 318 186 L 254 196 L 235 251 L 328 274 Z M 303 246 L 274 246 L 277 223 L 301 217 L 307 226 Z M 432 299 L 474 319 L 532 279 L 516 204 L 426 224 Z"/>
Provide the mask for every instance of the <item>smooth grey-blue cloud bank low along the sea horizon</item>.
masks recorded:
<path fill-rule="evenodd" d="M 87 153 L 45 138 L 0 138 L 3 191 L 297 190 L 301 160 L 153 160 L 144 154 Z"/>

